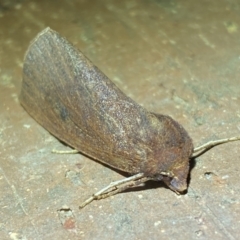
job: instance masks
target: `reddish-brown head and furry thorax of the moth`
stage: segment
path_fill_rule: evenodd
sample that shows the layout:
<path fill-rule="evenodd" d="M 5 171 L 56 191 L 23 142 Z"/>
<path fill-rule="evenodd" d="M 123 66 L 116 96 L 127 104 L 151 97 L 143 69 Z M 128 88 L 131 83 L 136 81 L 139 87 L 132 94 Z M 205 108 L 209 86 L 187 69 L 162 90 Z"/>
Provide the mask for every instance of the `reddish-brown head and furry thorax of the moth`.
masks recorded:
<path fill-rule="evenodd" d="M 152 113 L 151 157 L 146 175 L 163 181 L 171 190 L 182 193 L 187 189 L 189 160 L 193 143 L 186 130 L 169 116 Z"/>

